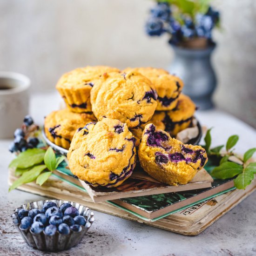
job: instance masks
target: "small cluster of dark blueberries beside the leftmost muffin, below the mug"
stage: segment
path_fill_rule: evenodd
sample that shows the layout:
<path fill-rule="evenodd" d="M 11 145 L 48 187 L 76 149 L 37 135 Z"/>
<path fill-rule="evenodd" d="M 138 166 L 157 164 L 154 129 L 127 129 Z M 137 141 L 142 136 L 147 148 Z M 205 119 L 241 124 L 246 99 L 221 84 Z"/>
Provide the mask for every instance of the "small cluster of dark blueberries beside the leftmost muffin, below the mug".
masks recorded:
<path fill-rule="evenodd" d="M 23 152 L 28 148 L 35 148 L 39 140 L 36 137 L 29 137 L 38 126 L 34 125 L 34 121 L 30 115 L 26 115 L 21 128 L 17 128 L 14 132 L 14 140 L 9 146 L 10 152 Z"/>

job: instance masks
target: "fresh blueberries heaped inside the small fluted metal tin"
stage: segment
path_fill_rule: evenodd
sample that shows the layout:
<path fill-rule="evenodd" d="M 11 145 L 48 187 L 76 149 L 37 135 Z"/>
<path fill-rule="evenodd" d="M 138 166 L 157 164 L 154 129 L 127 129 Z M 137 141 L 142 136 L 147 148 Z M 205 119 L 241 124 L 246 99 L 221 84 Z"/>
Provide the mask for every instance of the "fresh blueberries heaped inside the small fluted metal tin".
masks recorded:
<path fill-rule="evenodd" d="M 18 216 L 21 229 L 30 228 L 34 234 L 44 230 L 48 236 L 54 236 L 57 231 L 63 235 L 69 234 L 70 230 L 80 232 L 86 224 L 85 217 L 79 215 L 78 209 L 70 203 L 63 203 L 58 208 L 54 202 L 45 202 L 42 209 L 20 209 Z"/>

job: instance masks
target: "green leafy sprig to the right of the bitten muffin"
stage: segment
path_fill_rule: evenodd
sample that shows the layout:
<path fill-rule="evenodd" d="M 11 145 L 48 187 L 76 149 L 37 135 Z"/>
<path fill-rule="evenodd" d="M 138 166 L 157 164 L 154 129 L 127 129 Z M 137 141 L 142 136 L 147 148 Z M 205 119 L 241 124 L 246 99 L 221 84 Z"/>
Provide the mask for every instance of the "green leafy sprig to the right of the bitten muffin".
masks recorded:
<path fill-rule="evenodd" d="M 256 152 L 256 148 L 250 148 L 247 150 L 243 158 L 234 152 L 234 147 L 239 140 L 238 135 L 232 135 L 229 137 L 226 143 L 226 152 L 221 152 L 224 145 L 210 148 L 211 146 L 211 128 L 207 131 L 203 146 L 207 152 L 207 155 L 216 157 L 219 161 L 219 166 L 213 168 L 211 175 L 217 179 L 229 179 L 236 176 L 234 184 L 237 189 L 245 189 L 254 179 L 256 174 L 256 162 L 249 162 L 250 158 Z M 230 157 L 235 156 L 237 162 L 230 161 Z"/>

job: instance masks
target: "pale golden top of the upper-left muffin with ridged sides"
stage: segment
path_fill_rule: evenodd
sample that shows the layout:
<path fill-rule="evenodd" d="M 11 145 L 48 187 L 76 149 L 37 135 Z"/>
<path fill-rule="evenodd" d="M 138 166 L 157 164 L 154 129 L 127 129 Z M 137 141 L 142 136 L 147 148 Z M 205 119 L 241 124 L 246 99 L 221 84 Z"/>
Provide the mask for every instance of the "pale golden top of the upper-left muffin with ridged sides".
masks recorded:
<path fill-rule="evenodd" d="M 56 88 L 68 88 L 71 90 L 92 88 L 95 80 L 106 72 L 119 72 L 118 68 L 108 66 L 87 66 L 76 68 L 66 74 L 63 74 L 58 81 Z"/>

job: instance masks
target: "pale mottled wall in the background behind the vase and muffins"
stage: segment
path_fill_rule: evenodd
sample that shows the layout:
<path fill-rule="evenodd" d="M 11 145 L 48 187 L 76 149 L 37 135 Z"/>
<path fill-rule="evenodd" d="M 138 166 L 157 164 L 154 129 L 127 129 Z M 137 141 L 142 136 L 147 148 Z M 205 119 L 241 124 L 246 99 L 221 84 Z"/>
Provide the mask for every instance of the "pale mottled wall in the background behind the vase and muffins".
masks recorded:
<path fill-rule="evenodd" d="M 167 36 L 148 38 L 150 0 L 1 0 L 0 70 L 27 74 L 34 91 L 85 65 L 167 67 Z M 216 0 L 222 32 L 216 105 L 256 127 L 256 0 Z"/>

